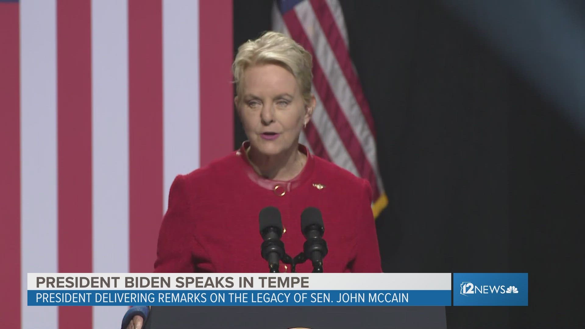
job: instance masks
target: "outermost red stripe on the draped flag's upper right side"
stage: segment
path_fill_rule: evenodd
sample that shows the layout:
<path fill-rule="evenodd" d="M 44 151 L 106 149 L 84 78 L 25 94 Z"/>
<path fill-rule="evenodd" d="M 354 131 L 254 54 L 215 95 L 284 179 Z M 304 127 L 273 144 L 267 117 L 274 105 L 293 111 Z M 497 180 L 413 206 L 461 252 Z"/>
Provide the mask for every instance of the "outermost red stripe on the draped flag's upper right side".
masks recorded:
<path fill-rule="evenodd" d="M 376 128 L 374 128 L 374 118 L 371 116 L 370 105 L 368 104 L 366 97 L 362 90 L 362 84 L 360 84 L 357 78 L 356 71 L 353 70 L 352 59 L 349 55 L 349 50 L 343 41 L 339 26 L 333 18 L 331 9 L 325 0 L 310 0 L 315 12 L 315 16 L 319 20 L 323 33 L 327 36 L 329 46 L 335 54 L 335 58 L 339 63 L 339 67 L 343 71 L 343 75 L 347 80 L 347 84 L 353 92 L 353 96 L 356 98 L 357 104 L 362 109 L 364 118 L 366 119 L 367 125 L 370 127 L 371 135 L 376 138 Z"/>

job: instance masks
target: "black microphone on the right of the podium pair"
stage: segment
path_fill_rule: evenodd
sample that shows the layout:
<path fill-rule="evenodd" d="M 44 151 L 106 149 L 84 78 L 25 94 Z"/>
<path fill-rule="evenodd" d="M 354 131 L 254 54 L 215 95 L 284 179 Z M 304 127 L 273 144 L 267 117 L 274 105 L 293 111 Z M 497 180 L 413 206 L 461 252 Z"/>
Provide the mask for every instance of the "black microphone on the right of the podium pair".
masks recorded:
<path fill-rule="evenodd" d="M 301 214 L 301 231 L 305 236 L 303 252 L 313 263 L 313 273 L 323 273 L 323 258 L 327 255 L 327 242 L 322 238 L 325 233 L 321 211 L 308 207 Z"/>

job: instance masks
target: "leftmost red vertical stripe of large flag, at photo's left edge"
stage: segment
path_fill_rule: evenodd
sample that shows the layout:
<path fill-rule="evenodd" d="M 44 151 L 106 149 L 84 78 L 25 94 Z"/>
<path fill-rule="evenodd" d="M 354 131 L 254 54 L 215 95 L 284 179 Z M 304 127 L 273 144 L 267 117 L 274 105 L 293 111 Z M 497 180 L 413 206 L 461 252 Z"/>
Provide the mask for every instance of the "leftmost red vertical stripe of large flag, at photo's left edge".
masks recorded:
<path fill-rule="evenodd" d="M 20 42 L 17 4 L 0 4 L 0 323 L 20 328 Z"/>

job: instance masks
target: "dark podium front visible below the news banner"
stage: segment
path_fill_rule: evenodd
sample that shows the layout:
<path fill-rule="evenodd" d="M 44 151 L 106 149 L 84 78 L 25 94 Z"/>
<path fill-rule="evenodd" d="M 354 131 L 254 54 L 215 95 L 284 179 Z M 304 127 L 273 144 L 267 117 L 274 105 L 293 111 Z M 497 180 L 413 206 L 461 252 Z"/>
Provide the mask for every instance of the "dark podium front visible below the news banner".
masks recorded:
<path fill-rule="evenodd" d="M 144 329 L 446 329 L 443 306 L 153 306 Z"/>

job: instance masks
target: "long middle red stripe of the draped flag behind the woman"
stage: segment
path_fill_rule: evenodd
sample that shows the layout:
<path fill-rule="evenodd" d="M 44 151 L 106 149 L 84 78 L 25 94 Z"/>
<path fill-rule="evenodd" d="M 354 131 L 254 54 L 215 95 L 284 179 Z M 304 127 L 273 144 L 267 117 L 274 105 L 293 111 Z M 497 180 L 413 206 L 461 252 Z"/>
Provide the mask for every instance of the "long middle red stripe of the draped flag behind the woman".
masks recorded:
<path fill-rule="evenodd" d="M 343 114 L 335 94 L 333 94 L 333 91 L 331 90 L 329 81 L 327 80 L 325 73 L 316 59 L 315 51 L 313 50 L 312 44 L 309 42 L 309 39 L 305 34 L 304 29 L 302 28 L 301 22 L 297 17 L 297 13 L 292 10 L 288 11 L 283 15 L 283 19 L 287 25 L 288 31 L 291 33 L 292 39 L 300 43 L 303 47 L 305 47 L 305 49 L 307 49 L 308 52 L 313 55 L 313 83 L 315 85 L 315 89 L 321 97 L 323 107 L 328 112 L 331 122 L 333 122 L 336 131 L 339 133 L 339 138 L 342 140 L 343 145 L 345 145 L 347 152 L 353 160 L 353 163 L 356 165 L 357 172 L 361 177 L 370 181 L 374 200 L 377 200 L 377 198 L 380 196 L 380 190 L 378 190 L 376 173 L 374 173 L 374 170 L 362 149 L 362 145 L 360 144 L 359 139 L 357 139 L 355 133 L 353 132 L 352 126 L 349 124 L 349 121 L 347 121 L 347 118 L 345 117 L 345 114 Z"/>

